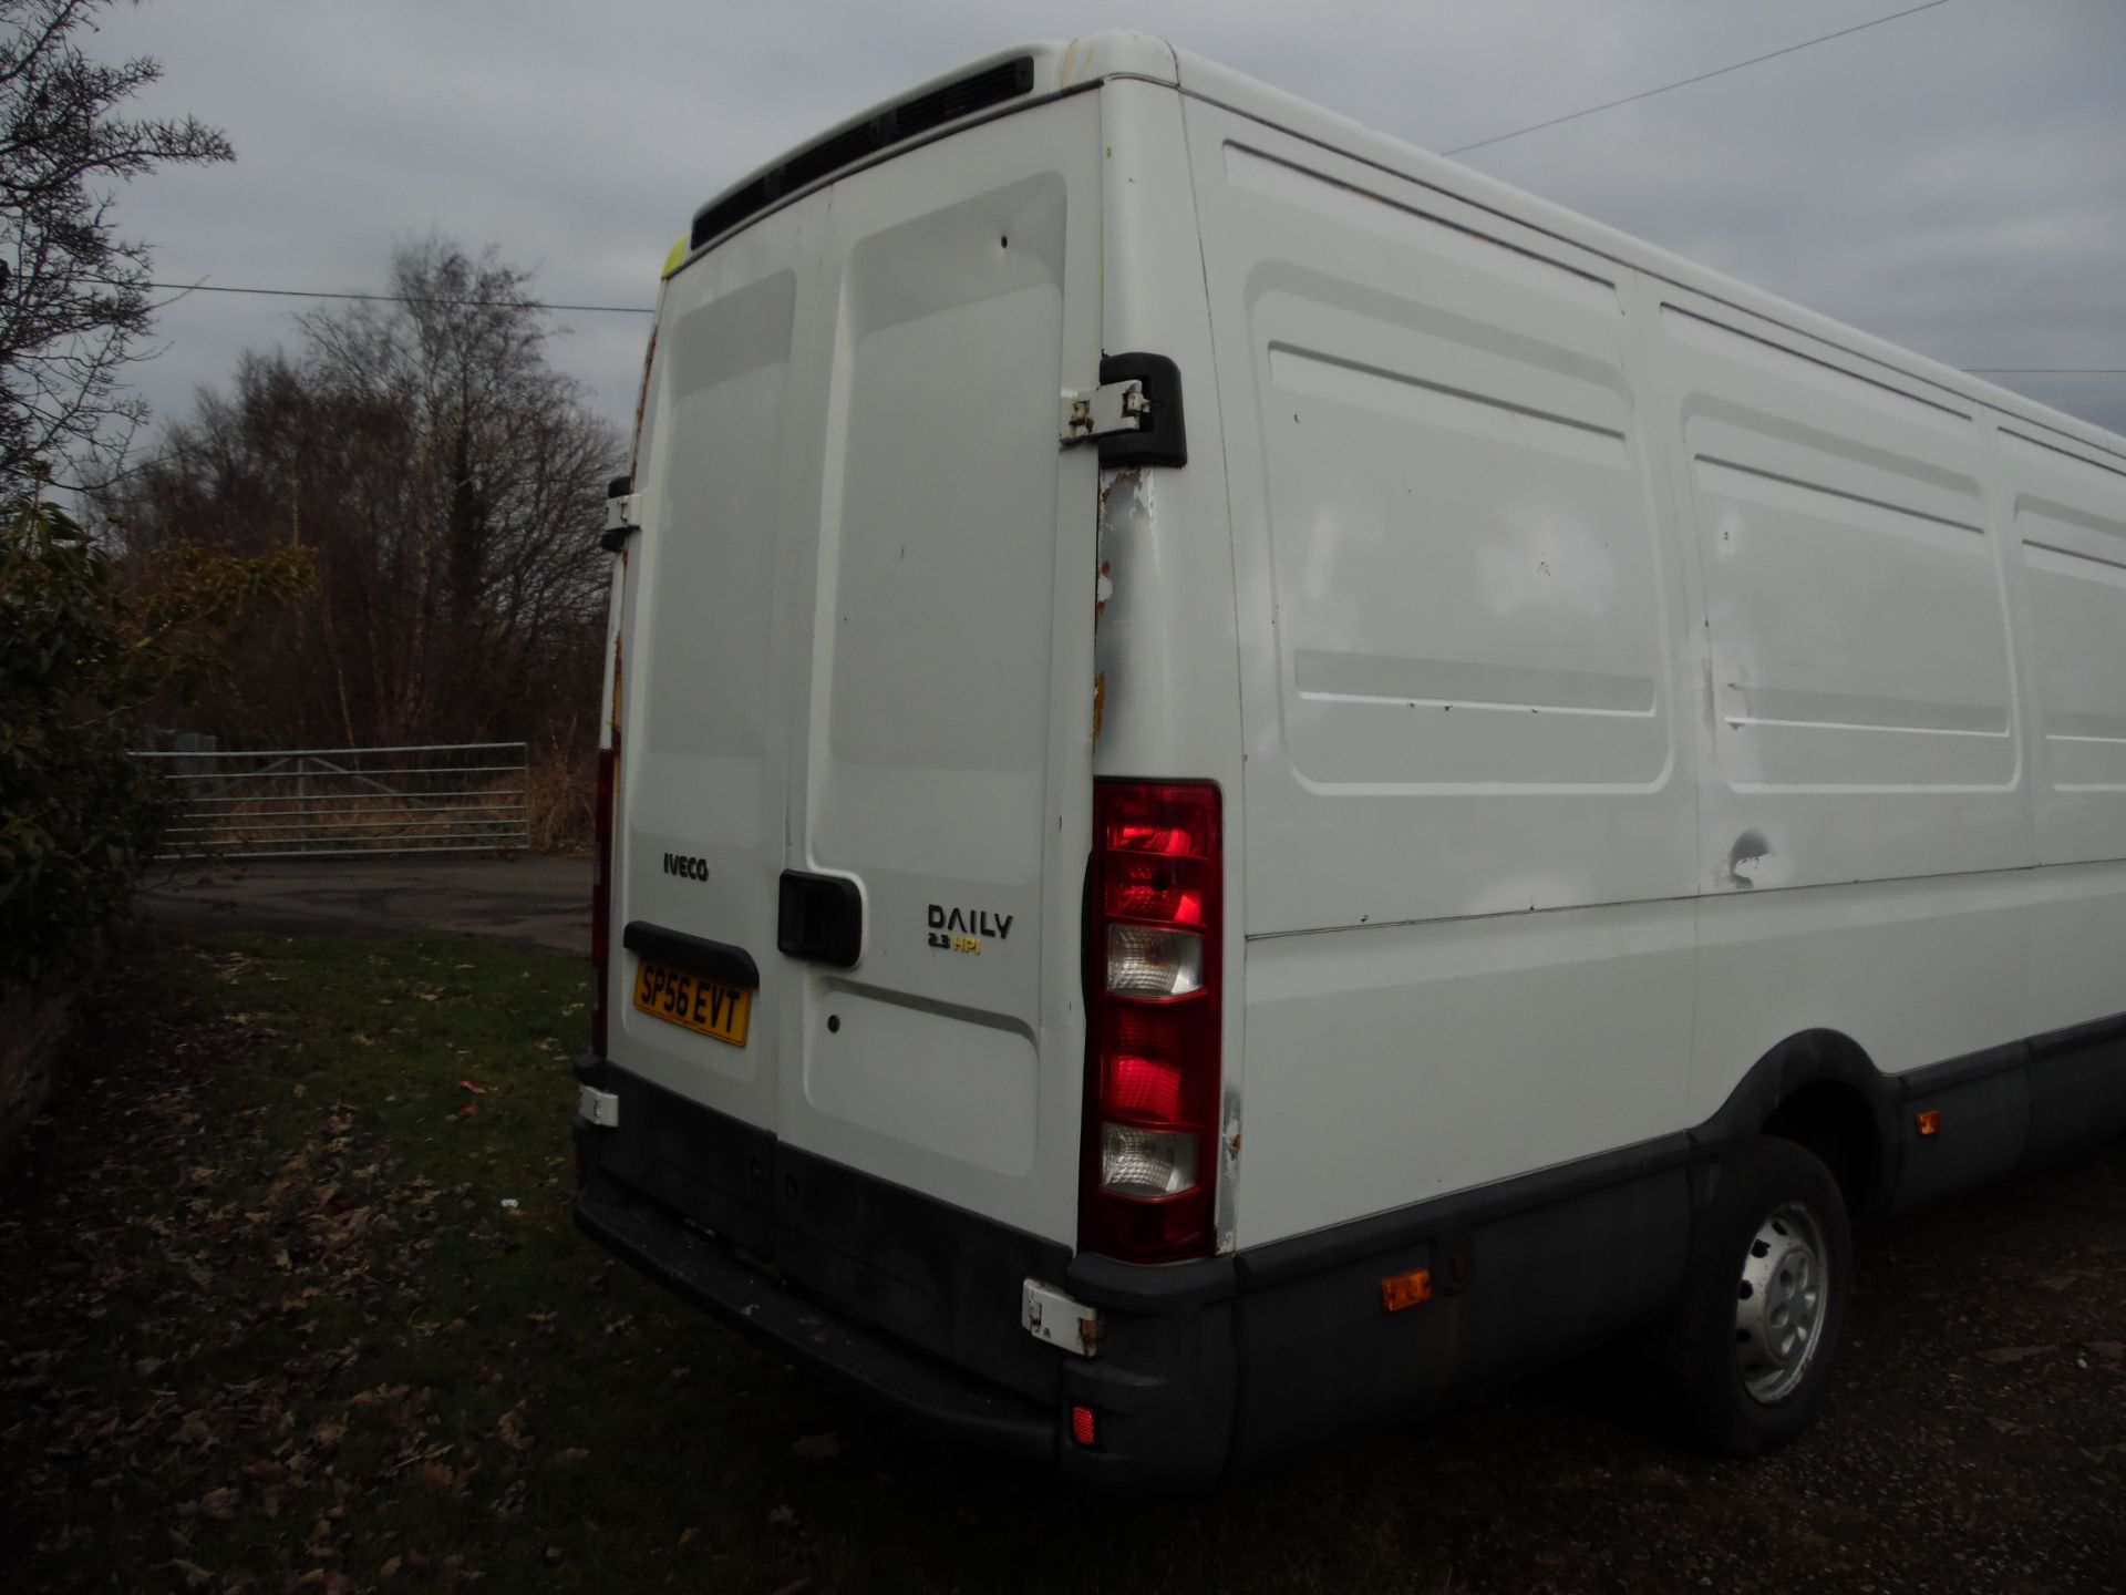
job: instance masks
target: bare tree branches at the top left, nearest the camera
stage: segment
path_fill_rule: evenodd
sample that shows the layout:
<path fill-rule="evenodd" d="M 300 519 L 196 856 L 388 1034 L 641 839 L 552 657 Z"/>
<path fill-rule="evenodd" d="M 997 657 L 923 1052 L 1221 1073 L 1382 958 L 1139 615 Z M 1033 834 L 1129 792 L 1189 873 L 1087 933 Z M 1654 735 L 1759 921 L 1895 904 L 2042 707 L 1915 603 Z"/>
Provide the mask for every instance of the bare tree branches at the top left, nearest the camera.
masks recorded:
<path fill-rule="evenodd" d="M 0 0 L 0 481 L 145 417 L 121 372 L 155 308 L 149 249 L 117 234 L 108 185 L 234 160 L 193 117 L 117 115 L 162 68 L 83 53 L 108 4 Z"/>

